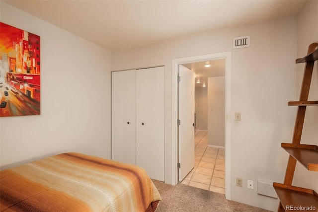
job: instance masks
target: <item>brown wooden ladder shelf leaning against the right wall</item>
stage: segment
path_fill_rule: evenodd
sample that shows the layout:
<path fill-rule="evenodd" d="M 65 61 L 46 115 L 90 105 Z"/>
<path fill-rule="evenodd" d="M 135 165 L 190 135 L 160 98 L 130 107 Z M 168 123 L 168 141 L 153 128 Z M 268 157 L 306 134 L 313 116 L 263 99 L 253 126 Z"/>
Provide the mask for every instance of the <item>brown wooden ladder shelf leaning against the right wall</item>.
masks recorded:
<path fill-rule="evenodd" d="M 318 101 L 308 101 L 314 64 L 315 61 L 318 60 L 317 46 L 318 43 L 312 43 L 308 47 L 308 55 L 304 58 L 296 60 L 296 63 L 306 63 L 306 66 L 299 101 L 288 102 L 288 106 L 298 106 L 298 110 L 293 141 L 292 143 L 282 143 L 282 147 L 289 153 L 284 184 L 273 183 L 280 200 L 278 212 L 306 211 L 306 209 L 307 211 L 310 211 L 308 208 L 304 207 L 315 207 L 316 210 L 318 210 L 318 194 L 316 191 L 292 186 L 297 161 L 305 166 L 308 170 L 318 171 L 318 146 L 300 144 L 306 108 L 307 106 L 318 106 Z"/>

